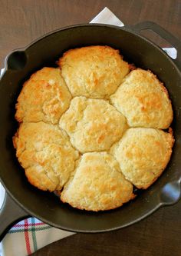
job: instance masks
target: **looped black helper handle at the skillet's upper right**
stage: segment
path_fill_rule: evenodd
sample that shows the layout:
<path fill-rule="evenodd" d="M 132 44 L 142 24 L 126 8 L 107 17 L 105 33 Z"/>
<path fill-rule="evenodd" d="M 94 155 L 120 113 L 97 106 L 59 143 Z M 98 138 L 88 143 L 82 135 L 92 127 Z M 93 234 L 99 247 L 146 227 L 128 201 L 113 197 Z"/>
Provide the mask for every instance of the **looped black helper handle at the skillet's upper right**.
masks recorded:
<path fill-rule="evenodd" d="M 140 34 L 142 30 L 152 30 L 157 35 L 160 35 L 161 38 L 164 38 L 167 42 L 169 42 L 170 45 L 173 45 L 173 47 L 177 50 L 177 58 L 173 60 L 173 62 L 176 63 L 181 71 L 181 41 L 178 38 L 155 22 L 140 22 L 136 25 L 128 25 L 127 28 L 130 28 L 133 32 L 137 32 L 138 34 Z"/>

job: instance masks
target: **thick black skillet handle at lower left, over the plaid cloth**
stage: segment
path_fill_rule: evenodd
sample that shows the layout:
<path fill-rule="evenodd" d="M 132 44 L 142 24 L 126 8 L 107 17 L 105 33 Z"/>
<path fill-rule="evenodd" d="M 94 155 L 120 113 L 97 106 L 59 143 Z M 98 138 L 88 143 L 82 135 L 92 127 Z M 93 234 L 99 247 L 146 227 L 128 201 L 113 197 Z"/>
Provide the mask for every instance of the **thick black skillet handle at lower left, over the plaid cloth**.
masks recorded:
<path fill-rule="evenodd" d="M 0 211 L 0 241 L 16 222 L 30 217 L 10 196 L 5 193 L 5 200 Z"/>

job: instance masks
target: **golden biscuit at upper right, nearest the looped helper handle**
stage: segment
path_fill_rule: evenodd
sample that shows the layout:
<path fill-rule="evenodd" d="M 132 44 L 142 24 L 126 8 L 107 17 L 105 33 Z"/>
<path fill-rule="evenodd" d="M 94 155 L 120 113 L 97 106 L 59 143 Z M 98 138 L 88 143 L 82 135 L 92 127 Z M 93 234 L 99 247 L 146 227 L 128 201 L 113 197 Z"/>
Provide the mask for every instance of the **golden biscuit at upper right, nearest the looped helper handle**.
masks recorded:
<path fill-rule="evenodd" d="M 131 127 L 166 129 L 173 120 L 168 92 L 151 71 L 131 71 L 110 101 Z"/>

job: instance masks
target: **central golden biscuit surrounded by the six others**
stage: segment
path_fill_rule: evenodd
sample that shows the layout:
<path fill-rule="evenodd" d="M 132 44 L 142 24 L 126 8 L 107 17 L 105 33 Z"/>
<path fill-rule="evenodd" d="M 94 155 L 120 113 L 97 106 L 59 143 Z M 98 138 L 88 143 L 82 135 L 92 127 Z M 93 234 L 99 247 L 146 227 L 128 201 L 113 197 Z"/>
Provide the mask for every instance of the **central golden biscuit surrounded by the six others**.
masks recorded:
<path fill-rule="evenodd" d="M 73 98 L 59 125 L 83 153 L 108 150 L 127 128 L 123 115 L 107 101 L 85 97 Z"/>

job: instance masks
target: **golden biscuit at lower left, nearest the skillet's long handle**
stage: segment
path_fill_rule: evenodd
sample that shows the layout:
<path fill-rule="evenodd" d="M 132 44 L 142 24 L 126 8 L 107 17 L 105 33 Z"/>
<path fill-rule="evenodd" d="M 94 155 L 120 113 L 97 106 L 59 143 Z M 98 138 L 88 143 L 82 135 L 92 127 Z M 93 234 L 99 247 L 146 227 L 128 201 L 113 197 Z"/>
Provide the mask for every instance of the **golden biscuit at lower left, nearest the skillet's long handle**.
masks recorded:
<path fill-rule="evenodd" d="M 78 158 L 64 131 L 44 122 L 22 123 L 13 143 L 32 185 L 42 190 L 61 190 Z"/>

